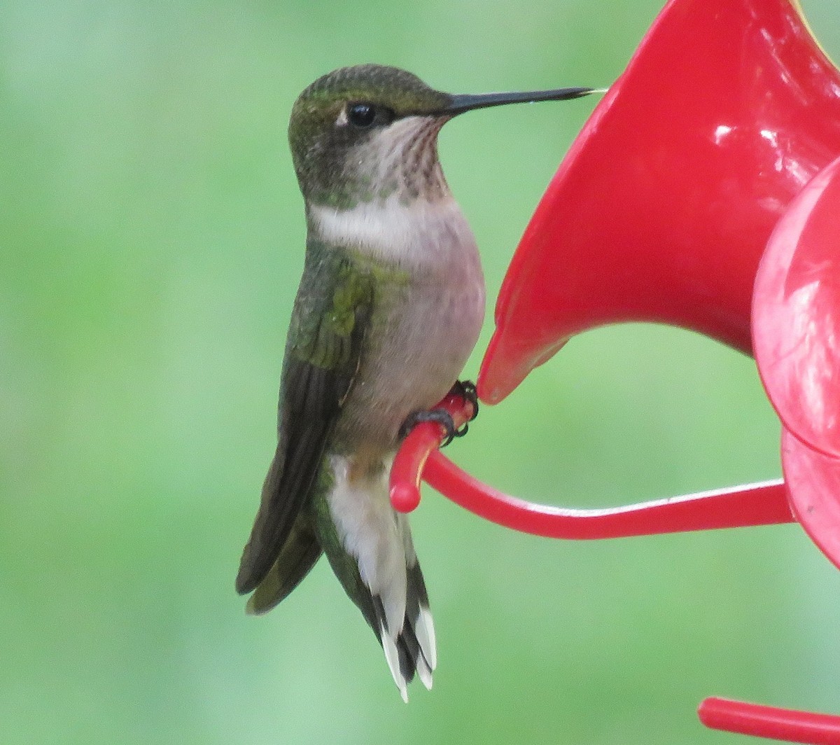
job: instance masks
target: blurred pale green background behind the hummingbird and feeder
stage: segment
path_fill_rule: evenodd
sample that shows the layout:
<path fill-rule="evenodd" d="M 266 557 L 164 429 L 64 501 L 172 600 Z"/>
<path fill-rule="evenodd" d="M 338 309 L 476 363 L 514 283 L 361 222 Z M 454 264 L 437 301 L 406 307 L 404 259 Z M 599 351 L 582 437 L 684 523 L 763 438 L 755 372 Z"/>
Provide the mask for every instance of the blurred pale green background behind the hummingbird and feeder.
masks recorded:
<path fill-rule="evenodd" d="M 840 711 L 840 573 L 795 526 L 563 543 L 428 491 L 440 665 L 408 706 L 325 562 L 269 616 L 234 594 L 302 267 L 297 93 L 364 61 L 605 85 L 659 5 L 0 2 L 0 742 L 734 745 L 705 695 Z M 805 10 L 840 56 L 836 0 Z M 491 299 L 593 105 L 444 129 Z M 575 340 L 450 454 L 606 506 L 775 477 L 778 438 L 750 359 L 634 326 Z"/>

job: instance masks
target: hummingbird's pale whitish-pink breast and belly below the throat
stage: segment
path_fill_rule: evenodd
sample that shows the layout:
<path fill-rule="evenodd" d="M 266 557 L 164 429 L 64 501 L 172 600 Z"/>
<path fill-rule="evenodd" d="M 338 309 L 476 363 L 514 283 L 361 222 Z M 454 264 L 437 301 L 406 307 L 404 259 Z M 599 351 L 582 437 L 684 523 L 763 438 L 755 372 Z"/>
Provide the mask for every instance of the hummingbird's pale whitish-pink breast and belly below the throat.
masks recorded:
<path fill-rule="evenodd" d="M 356 218 L 356 229 L 349 229 Z M 451 198 L 378 215 L 366 205 L 364 215 L 344 213 L 341 219 L 345 242 L 358 236 L 354 248 L 360 254 L 398 268 L 403 279 L 377 282 L 360 370 L 336 435 L 344 443 L 393 449 L 408 414 L 446 395 L 478 340 L 485 313 L 478 249 Z M 397 239 L 375 230 L 377 222 L 396 226 Z M 329 217 L 322 220 L 327 233 L 330 225 Z"/>

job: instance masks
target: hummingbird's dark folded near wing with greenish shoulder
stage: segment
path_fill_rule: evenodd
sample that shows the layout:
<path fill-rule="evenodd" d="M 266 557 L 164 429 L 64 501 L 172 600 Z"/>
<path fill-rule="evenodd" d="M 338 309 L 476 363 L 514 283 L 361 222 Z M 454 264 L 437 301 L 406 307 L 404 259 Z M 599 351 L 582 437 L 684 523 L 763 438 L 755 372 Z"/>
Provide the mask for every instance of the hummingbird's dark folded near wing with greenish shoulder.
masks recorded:
<path fill-rule="evenodd" d="M 372 302 L 367 272 L 344 251 L 310 242 L 286 341 L 277 451 L 239 564 L 240 594 L 268 574 L 312 490 L 328 434 L 359 368 Z"/>

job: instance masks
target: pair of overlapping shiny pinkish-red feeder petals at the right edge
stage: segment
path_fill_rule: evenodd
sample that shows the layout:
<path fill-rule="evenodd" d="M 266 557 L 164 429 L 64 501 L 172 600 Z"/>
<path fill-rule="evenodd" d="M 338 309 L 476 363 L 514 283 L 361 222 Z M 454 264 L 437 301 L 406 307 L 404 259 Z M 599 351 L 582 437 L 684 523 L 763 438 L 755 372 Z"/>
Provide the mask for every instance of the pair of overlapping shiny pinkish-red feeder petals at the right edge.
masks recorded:
<path fill-rule="evenodd" d="M 840 158 L 791 202 L 755 281 L 753 338 L 785 425 L 782 468 L 802 527 L 840 567 Z"/>

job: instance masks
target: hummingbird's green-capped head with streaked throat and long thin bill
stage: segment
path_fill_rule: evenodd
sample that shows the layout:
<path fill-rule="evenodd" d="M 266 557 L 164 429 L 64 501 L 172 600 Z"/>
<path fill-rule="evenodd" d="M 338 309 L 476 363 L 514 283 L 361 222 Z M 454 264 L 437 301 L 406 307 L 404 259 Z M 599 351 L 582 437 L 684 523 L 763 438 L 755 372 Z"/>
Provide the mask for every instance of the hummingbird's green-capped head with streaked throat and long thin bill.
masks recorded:
<path fill-rule="evenodd" d="M 412 202 L 449 195 L 438 162 L 440 128 L 459 113 L 504 103 L 561 100 L 591 88 L 451 95 L 396 67 L 342 67 L 297 98 L 289 144 L 303 197 L 350 209 L 396 197 Z"/>

